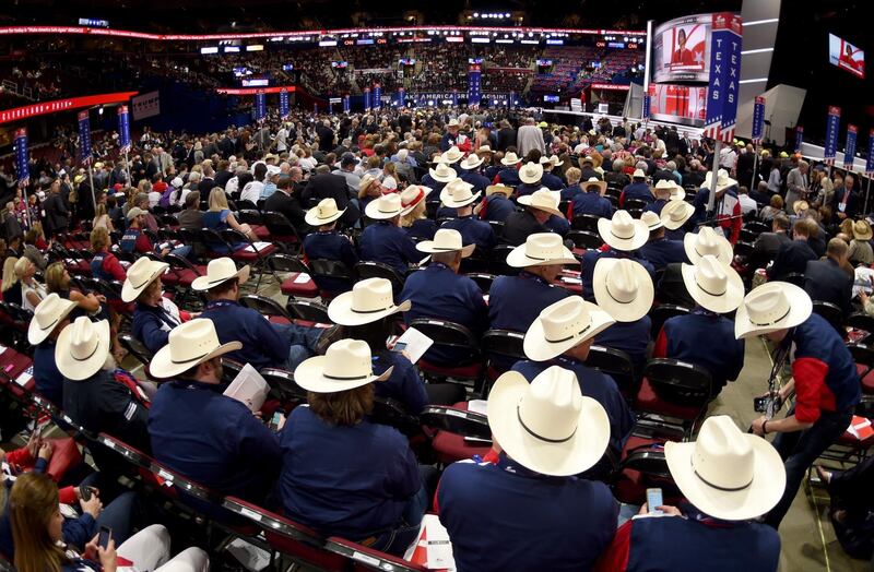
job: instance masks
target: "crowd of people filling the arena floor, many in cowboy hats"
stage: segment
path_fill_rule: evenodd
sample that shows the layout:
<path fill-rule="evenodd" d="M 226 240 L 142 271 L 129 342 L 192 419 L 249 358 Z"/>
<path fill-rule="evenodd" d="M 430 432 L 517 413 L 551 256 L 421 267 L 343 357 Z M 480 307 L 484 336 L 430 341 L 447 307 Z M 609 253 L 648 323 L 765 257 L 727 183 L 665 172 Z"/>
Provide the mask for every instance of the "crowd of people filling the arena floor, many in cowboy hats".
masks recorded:
<path fill-rule="evenodd" d="M 867 270 L 874 237 L 855 177 L 838 182 L 835 169 L 811 182 L 811 166 L 779 150 L 763 153 L 754 176 L 754 153 L 740 143 L 714 156 L 711 142 L 675 129 L 589 117 L 562 124 L 507 109 L 296 109 L 287 121 L 222 133 L 146 131 L 129 163 L 95 165 L 93 189 L 71 157 L 34 164 L 35 208 L 20 219 L 15 196 L 2 222 L 2 297 L 33 312 L 36 391 L 69 422 L 324 537 L 402 556 L 425 513 L 436 512 L 463 571 L 652 562 L 775 571 L 778 531 L 805 472 L 861 398 L 845 336 L 814 302 L 853 309 L 859 269 L 850 261 Z M 327 305 L 326 327 L 274 323 L 240 303 L 243 293 L 267 291 L 252 278 L 269 276 L 263 258 L 287 248 L 244 219 L 252 212 L 293 228 Z M 743 250 L 743 222 L 756 217 L 772 233 Z M 181 230 L 206 238 L 188 242 L 194 235 Z M 209 238 L 228 230 L 234 239 Z M 72 248 L 71 233 L 88 233 L 76 239 L 90 247 L 87 270 L 115 281 L 118 299 L 70 275 L 74 261 L 57 252 Z M 168 269 L 208 257 L 184 287 L 192 296 L 165 296 Z M 361 262 L 377 263 L 380 277 L 356 281 Z M 494 273 L 485 289 L 468 275 L 482 269 Z M 653 327 L 653 309 L 668 302 L 686 311 Z M 421 319 L 456 324 L 475 344 L 437 341 L 421 358 L 397 347 L 393 334 Z M 128 327 L 151 356 L 137 376 L 120 368 L 131 359 L 117 343 Z M 375 403 L 386 398 L 411 416 L 427 405 L 472 407 L 465 402 L 482 395 L 453 378 L 476 368 L 480 342 L 496 330 L 515 332 L 522 347 L 489 361 L 492 441 L 464 448 L 476 456 L 444 466 L 380 422 Z M 641 381 L 648 360 L 704 371 L 706 405 L 740 383 L 745 342 L 757 337 L 778 356 L 792 348 L 792 379 L 769 395 L 790 404 L 786 415 L 752 419 L 752 433 L 728 416 L 707 417 L 685 442 L 664 443 L 665 482 L 677 492 L 665 488 L 657 507 L 621 504 L 609 486 L 615 461 L 645 402 L 658 398 L 641 397 L 653 391 Z M 593 345 L 625 356 L 633 381 L 587 365 Z M 291 372 L 308 406 L 253 414 L 223 394 L 223 358 Z M 34 467 L 0 487 L 0 555 L 21 572 L 45 562 L 153 570 L 174 553 L 172 523 L 109 510 L 128 499 L 121 460 L 90 450 L 98 473 L 72 497 L 39 463 L 49 445 L 34 438 L 15 452 Z M 857 499 L 842 485 L 852 478 L 823 473 L 841 507 Z M 182 500 L 231 519 L 203 499 Z M 59 502 L 81 511 L 58 513 Z M 843 525 L 866 529 L 870 511 L 852 511 Z M 95 538 L 101 515 L 115 519 L 105 546 Z M 152 560 L 143 543 L 161 548 Z M 165 565 L 204 570 L 208 556 L 189 548 Z"/>

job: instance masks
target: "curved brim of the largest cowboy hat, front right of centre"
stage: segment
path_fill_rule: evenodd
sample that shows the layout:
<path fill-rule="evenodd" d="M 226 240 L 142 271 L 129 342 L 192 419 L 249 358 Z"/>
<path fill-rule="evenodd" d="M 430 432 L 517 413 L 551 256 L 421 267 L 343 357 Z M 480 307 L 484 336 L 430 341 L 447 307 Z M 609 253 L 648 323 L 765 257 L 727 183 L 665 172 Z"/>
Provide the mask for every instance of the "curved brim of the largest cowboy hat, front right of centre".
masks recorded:
<path fill-rule="evenodd" d="M 610 419 L 597 401 L 581 397 L 577 430 L 567 441 L 551 443 L 531 434 L 519 419 L 519 400 L 529 389 L 516 371 L 504 373 L 488 395 L 488 427 L 507 454 L 517 463 L 540 473 L 565 477 L 579 475 L 598 463 L 610 442 Z"/>

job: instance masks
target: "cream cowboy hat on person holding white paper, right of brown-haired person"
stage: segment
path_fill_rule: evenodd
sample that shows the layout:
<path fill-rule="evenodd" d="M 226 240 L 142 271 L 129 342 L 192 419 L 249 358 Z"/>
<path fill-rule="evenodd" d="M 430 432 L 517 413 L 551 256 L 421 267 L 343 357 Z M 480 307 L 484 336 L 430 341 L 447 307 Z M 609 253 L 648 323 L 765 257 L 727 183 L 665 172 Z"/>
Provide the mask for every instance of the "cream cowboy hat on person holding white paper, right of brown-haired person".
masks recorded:
<path fill-rule="evenodd" d="M 328 317 L 340 325 L 364 325 L 410 309 L 410 300 L 394 303 L 391 283 L 386 278 L 356 282 L 352 290 L 331 300 Z"/>

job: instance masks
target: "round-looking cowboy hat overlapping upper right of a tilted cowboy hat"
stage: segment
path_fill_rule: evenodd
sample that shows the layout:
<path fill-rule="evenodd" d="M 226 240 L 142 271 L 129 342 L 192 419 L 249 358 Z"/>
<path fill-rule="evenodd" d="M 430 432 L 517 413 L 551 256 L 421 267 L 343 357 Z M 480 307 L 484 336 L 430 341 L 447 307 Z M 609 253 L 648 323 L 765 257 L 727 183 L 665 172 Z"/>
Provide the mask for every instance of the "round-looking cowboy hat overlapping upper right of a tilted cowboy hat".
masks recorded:
<path fill-rule="evenodd" d="M 656 296 L 647 269 L 628 259 L 599 259 L 592 288 L 598 305 L 618 322 L 636 322 L 647 315 Z"/>

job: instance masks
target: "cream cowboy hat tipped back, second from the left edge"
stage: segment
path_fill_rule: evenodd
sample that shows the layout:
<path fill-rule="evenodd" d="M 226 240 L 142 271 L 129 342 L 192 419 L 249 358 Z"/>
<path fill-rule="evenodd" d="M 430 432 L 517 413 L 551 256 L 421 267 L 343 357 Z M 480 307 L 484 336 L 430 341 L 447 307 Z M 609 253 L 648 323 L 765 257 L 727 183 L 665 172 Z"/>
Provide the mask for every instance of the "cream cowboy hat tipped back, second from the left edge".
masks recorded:
<path fill-rule="evenodd" d="M 86 315 L 82 315 L 58 336 L 55 365 L 67 379 L 87 379 L 103 368 L 111 344 L 108 320 L 92 322 Z"/>

